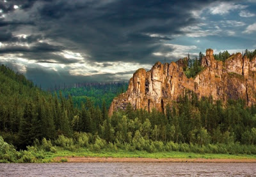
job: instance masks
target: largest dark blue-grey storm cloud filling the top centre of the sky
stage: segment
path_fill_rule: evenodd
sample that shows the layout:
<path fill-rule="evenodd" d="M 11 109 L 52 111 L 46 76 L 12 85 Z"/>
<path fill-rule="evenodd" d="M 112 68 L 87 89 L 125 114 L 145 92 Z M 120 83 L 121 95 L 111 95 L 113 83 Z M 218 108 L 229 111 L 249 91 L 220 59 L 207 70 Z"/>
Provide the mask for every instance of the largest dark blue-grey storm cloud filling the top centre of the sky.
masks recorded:
<path fill-rule="evenodd" d="M 155 59 L 151 54 L 163 47 L 163 41 L 183 34 L 180 28 L 196 24 L 190 11 L 209 2 L 53 1 L 40 9 L 40 15 L 48 21 L 42 24 L 43 31 L 52 25 L 47 37 L 65 36 L 92 60 L 152 63 Z"/>

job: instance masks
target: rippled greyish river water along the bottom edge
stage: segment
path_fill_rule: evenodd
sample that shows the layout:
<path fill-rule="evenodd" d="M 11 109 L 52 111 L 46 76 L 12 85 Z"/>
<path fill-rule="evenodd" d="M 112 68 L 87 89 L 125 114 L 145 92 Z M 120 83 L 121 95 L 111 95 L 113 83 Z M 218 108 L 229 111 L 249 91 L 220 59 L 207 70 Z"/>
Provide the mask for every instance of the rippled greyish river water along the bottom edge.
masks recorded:
<path fill-rule="evenodd" d="M 0 176 L 256 176 L 256 163 L 0 164 Z"/>

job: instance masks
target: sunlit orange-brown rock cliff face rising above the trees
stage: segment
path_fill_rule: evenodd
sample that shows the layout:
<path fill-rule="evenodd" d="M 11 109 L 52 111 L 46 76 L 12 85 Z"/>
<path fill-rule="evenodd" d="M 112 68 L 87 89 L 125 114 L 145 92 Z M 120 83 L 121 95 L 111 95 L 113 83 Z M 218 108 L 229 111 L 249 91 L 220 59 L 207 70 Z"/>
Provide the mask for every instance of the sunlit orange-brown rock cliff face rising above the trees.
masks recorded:
<path fill-rule="evenodd" d="M 204 69 L 195 78 L 187 78 L 183 64 L 182 60 L 170 64 L 156 62 L 150 71 L 138 69 L 127 92 L 113 99 L 109 115 L 125 110 L 128 103 L 134 109 L 164 111 L 166 104 L 191 92 L 199 98 L 212 96 L 214 101 L 221 99 L 224 103 L 239 98 L 248 106 L 256 103 L 256 57 L 250 61 L 246 55 L 236 53 L 222 62 L 214 59 L 212 49 L 207 49 L 201 61 Z"/>

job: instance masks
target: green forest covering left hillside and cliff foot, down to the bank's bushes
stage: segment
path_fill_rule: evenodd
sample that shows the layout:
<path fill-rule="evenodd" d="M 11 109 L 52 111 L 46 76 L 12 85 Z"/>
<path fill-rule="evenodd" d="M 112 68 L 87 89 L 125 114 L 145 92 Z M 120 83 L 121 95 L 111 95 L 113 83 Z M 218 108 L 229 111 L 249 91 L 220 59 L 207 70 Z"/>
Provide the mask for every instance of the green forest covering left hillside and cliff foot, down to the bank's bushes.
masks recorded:
<path fill-rule="evenodd" d="M 125 84 L 115 87 L 115 96 L 125 92 Z M 109 88 L 104 94 L 113 95 Z M 70 92 L 85 88 L 72 89 L 45 92 L 0 66 L 1 162 L 40 162 L 45 152 L 81 148 L 256 154 L 256 106 L 248 108 L 243 100 L 224 105 L 190 93 L 167 105 L 165 113 L 128 105 L 108 117 L 109 102 L 73 99 Z"/>

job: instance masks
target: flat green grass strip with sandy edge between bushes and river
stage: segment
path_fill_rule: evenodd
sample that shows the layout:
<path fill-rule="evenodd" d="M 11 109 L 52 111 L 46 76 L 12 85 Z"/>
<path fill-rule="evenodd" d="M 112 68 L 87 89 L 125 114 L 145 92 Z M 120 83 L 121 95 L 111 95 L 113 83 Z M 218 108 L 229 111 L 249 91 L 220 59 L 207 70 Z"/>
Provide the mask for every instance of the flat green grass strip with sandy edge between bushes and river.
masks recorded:
<path fill-rule="evenodd" d="M 81 157 L 81 158 L 74 158 Z M 88 158 L 97 157 L 97 158 Z M 102 159 L 105 157 L 106 159 Z M 108 159 L 109 158 L 109 159 Z M 199 159 L 199 160 L 195 160 Z M 204 160 L 202 160 L 204 159 Z M 155 152 L 146 151 L 126 152 L 125 150 L 101 150 L 93 152 L 87 148 L 81 148 L 76 152 L 69 150 L 57 150 L 56 153 L 45 153 L 44 162 L 256 162 L 256 155 L 246 154 L 215 154 L 215 153 L 190 153 L 190 152 Z M 238 161 L 237 161 L 238 160 Z"/>

